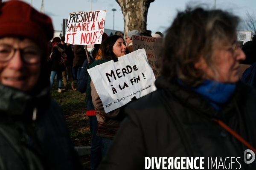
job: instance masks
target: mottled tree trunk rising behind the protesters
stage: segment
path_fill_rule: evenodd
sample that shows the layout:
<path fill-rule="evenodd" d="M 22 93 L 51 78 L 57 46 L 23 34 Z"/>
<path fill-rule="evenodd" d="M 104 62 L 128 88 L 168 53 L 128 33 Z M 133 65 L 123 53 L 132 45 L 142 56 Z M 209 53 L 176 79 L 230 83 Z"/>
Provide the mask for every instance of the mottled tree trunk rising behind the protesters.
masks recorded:
<path fill-rule="evenodd" d="M 121 6 L 124 15 L 124 35 L 134 29 L 144 33 L 147 30 L 149 4 L 154 0 L 116 0 L 116 2 Z"/>

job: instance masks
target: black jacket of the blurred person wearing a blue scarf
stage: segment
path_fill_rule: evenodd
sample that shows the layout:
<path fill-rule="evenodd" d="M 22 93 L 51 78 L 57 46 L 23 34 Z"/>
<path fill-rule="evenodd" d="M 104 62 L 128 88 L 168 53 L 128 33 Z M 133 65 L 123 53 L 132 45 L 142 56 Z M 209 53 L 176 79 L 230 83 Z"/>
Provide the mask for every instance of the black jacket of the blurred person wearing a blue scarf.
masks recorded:
<path fill-rule="evenodd" d="M 183 86 L 169 84 L 161 78 L 157 79 L 156 86 L 157 91 L 126 107 L 128 117 L 122 122 L 99 170 L 142 170 L 145 157 L 182 156 L 204 157 L 204 169 L 227 169 L 232 161 L 232 169 L 256 170 L 256 160 L 244 163 L 244 151 L 248 148 L 212 121 L 221 119 L 256 147 L 255 89 L 238 82 L 235 93 L 219 113 Z M 213 163 L 217 158 L 217 164 L 209 168 L 208 158 L 212 158 Z M 221 162 L 226 168 L 219 166 Z"/>

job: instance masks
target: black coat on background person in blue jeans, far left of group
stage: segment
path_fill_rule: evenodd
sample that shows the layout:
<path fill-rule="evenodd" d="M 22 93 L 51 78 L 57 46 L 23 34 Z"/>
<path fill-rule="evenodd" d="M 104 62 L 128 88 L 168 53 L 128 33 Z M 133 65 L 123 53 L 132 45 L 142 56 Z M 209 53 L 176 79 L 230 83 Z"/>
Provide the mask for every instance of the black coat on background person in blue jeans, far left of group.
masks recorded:
<path fill-rule="evenodd" d="M 52 48 L 51 71 L 56 71 L 56 72 L 65 71 L 65 66 L 59 64 L 59 61 L 61 60 L 61 52 L 64 52 L 64 51 L 65 51 L 64 45 L 62 45 L 61 43 L 55 44 L 54 47 Z"/>

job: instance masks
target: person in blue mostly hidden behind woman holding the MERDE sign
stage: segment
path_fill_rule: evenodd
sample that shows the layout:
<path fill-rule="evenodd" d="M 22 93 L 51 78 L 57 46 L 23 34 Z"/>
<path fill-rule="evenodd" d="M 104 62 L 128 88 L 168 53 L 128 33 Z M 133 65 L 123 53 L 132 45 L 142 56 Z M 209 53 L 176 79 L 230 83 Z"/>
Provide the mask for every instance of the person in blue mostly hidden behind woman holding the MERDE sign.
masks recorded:
<path fill-rule="evenodd" d="M 102 41 L 104 41 L 107 37 L 108 35 L 104 32 L 102 35 Z M 93 63 L 95 60 L 100 59 L 100 57 L 102 56 L 101 44 L 94 44 L 92 55 L 93 57 L 89 56 L 90 64 Z M 88 63 L 88 60 L 85 59 L 82 65 L 79 80 L 77 82 L 77 88 L 80 93 L 85 93 L 87 89 L 87 82 L 88 82 L 88 76 L 89 76 L 89 74 L 87 73 L 87 68 L 89 68 L 89 63 Z M 100 148 L 101 138 L 97 136 L 98 122 L 97 122 L 96 112 L 94 110 L 93 104 L 86 106 L 86 116 L 89 117 L 90 131 L 93 137 L 93 140 L 91 142 L 92 147 L 90 150 L 91 170 L 96 170 L 99 163 L 102 161 L 102 153 Z"/>

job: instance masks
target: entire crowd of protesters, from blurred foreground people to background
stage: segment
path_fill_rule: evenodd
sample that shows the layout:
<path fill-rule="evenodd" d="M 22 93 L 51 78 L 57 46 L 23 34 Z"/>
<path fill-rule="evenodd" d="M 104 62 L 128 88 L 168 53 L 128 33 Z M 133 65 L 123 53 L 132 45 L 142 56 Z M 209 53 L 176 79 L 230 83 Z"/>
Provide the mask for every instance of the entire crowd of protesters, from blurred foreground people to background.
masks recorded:
<path fill-rule="evenodd" d="M 256 153 L 256 40 L 239 47 L 233 14 L 186 8 L 165 36 L 104 33 L 91 55 L 84 45 L 53 38 L 51 19 L 22 1 L 0 2 L 0 22 L 0 169 L 83 169 L 61 108 L 50 99 L 55 77 L 58 92 L 68 81 L 76 91 L 77 81 L 86 93 L 91 170 L 154 169 L 153 158 L 162 157 L 204 157 L 204 169 L 209 157 L 235 157 L 233 168 L 256 169 L 256 161 L 244 161 L 244 151 Z M 105 113 L 87 69 L 133 52 L 132 35 L 163 38 L 157 90 Z"/>

